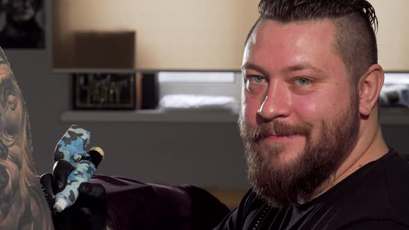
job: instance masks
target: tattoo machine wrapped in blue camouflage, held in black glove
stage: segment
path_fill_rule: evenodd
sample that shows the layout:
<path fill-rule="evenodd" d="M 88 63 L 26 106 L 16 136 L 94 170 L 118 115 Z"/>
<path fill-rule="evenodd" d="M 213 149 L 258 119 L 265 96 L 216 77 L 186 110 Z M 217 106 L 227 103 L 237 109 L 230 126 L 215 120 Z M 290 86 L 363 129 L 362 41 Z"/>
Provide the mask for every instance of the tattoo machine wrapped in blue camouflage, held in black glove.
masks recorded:
<path fill-rule="evenodd" d="M 67 186 L 55 194 L 53 209 L 56 212 L 61 212 L 76 201 L 80 184 L 91 179 L 104 157 L 101 148 L 93 147 L 86 151 L 90 137 L 91 134 L 87 130 L 71 125 L 55 146 L 54 161 L 64 160 L 74 166 L 67 178 Z"/>

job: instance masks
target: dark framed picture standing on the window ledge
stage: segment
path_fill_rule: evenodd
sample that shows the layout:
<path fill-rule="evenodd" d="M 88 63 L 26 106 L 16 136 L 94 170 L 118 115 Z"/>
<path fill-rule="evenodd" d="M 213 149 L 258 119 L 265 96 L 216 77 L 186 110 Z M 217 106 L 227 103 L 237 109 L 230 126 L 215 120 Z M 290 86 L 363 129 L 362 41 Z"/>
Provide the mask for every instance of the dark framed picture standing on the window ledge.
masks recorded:
<path fill-rule="evenodd" d="M 72 73 L 74 110 L 136 109 L 135 73 Z"/>

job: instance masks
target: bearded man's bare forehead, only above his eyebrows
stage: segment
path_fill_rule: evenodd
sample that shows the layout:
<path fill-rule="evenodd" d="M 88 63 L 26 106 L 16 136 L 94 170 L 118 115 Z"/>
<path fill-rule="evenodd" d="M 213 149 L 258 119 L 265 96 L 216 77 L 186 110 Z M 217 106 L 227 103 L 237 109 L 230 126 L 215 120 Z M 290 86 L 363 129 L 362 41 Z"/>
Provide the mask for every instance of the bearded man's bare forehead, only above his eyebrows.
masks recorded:
<path fill-rule="evenodd" d="M 297 21 L 282 23 L 263 19 L 254 27 L 243 53 L 243 64 L 254 55 L 306 55 L 333 53 L 333 21 Z"/>

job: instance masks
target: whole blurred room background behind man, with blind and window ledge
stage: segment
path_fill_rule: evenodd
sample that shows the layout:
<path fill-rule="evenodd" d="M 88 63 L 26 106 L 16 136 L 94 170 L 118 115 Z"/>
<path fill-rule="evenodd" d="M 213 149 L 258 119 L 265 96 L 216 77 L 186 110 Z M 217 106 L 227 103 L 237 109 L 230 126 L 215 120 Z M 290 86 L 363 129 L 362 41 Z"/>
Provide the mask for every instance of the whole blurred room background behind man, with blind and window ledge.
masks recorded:
<path fill-rule="evenodd" d="M 98 173 L 195 184 L 236 205 L 249 188 L 236 120 L 257 1 L 1 2 L 0 44 L 26 98 L 38 174 L 76 124 L 105 150 Z M 388 79 L 383 133 L 406 156 L 409 1 L 370 2 Z"/>

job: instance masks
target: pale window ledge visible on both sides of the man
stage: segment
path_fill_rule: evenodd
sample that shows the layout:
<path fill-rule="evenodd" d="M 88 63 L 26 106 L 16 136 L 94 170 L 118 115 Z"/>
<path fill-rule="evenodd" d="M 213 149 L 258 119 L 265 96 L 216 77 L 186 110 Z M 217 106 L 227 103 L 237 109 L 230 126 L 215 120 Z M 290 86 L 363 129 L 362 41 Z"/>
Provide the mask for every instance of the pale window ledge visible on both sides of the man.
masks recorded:
<path fill-rule="evenodd" d="M 180 123 L 236 123 L 238 114 L 228 111 L 192 110 L 163 111 L 157 109 L 126 111 L 67 111 L 61 115 L 64 122 L 180 122 Z M 382 125 L 409 125 L 409 109 L 381 108 Z"/>

